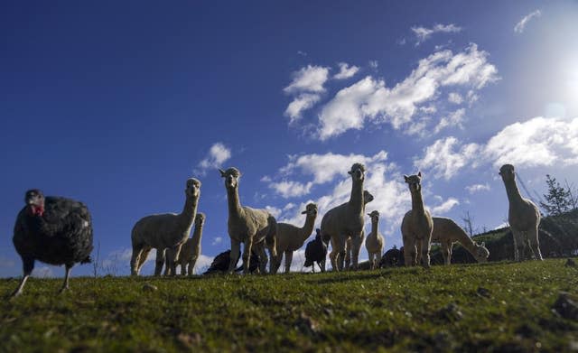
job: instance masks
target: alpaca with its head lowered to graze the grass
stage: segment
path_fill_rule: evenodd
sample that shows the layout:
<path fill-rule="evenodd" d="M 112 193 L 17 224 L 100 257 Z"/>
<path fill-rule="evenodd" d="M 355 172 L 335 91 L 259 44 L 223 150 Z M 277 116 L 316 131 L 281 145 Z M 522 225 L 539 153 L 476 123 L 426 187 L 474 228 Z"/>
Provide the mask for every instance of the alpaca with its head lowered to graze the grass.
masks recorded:
<path fill-rule="evenodd" d="M 484 243 L 476 244 L 452 219 L 433 217 L 432 243 L 442 244 L 443 263 L 452 262 L 453 243 L 460 243 L 479 263 L 488 261 L 489 251 Z"/>

